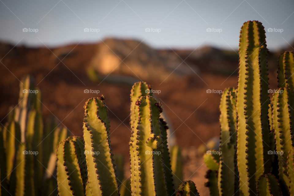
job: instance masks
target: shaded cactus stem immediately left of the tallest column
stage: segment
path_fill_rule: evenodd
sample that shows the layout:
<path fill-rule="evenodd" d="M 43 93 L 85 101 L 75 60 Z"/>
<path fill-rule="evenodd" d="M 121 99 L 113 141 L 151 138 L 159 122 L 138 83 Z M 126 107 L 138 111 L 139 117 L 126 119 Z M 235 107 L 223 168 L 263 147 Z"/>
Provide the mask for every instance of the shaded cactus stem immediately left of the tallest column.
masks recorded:
<path fill-rule="evenodd" d="M 220 101 L 220 161 L 218 170 L 219 195 L 238 192 L 238 169 L 236 166 L 237 115 L 235 89 L 224 90 Z M 231 98 L 232 97 L 232 101 Z"/>

